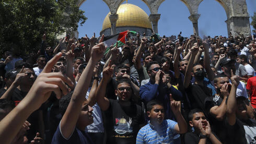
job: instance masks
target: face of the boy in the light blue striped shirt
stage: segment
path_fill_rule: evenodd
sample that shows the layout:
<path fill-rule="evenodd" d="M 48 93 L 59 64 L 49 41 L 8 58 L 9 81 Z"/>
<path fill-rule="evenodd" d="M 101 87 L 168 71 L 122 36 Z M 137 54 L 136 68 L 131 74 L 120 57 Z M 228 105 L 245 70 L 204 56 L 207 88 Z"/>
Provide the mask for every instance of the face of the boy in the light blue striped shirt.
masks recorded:
<path fill-rule="evenodd" d="M 165 118 L 165 110 L 164 107 L 161 105 L 154 105 L 152 110 L 148 113 L 148 117 L 150 118 L 150 122 L 161 124 Z"/>

